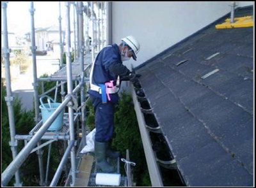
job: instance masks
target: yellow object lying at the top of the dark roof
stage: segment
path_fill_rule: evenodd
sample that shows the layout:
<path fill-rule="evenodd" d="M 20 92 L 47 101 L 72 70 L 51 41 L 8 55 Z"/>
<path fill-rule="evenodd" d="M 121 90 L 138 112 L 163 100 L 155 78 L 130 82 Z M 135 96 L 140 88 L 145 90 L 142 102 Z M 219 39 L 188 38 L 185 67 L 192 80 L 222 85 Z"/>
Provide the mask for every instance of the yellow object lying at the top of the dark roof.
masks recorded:
<path fill-rule="evenodd" d="M 233 27 L 253 27 L 252 16 L 234 18 L 233 23 L 230 23 L 230 18 L 227 18 L 223 24 L 215 25 L 216 29 L 228 29 Z"/>

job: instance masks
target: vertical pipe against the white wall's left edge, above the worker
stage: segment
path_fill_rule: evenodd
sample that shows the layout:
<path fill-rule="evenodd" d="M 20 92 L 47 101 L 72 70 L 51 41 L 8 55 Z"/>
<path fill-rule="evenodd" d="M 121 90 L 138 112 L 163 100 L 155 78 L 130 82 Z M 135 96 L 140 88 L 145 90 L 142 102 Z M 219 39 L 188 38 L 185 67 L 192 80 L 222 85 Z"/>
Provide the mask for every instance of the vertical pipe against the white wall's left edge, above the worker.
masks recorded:
<path fill-rule="evenodd" d="M 112 42 L 112 2 L 106 2 L 106 45 Z"/>

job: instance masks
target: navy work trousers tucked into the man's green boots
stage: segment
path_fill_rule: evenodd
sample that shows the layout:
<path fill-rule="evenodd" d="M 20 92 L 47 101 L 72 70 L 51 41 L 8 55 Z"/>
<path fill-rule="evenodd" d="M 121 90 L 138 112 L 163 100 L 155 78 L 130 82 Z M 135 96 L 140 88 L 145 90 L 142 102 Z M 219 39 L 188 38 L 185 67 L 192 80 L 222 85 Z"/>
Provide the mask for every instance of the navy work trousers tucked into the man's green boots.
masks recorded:
<path fill-rule="evenodd" d="M 90 94 L 95 113 L 95 141 L 109 141 L 114 130 L 114 110 L 115 104 L 111 102 L 102 103 L 101 98 Z"/>

